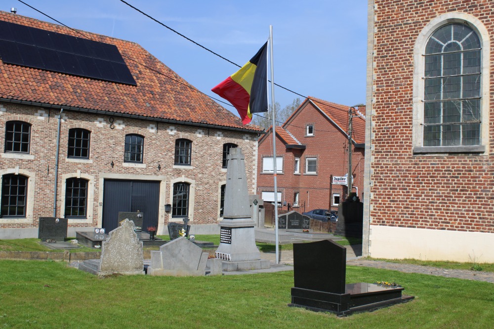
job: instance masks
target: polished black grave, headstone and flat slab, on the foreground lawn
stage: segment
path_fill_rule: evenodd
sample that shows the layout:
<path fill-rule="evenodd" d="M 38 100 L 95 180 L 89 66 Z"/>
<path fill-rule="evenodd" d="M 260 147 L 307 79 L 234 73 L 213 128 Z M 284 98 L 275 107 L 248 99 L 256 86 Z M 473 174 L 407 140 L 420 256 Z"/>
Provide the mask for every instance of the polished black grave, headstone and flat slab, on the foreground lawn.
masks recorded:
<path fill-rule="evenodd" d="M 381 287 L 370 283 L 345 284 L 346 248 L 323 240 L 293 244 L 291 303 L 312 311 L 338 316 L 371 311 L 412 300 L 402 287 Z"/>

